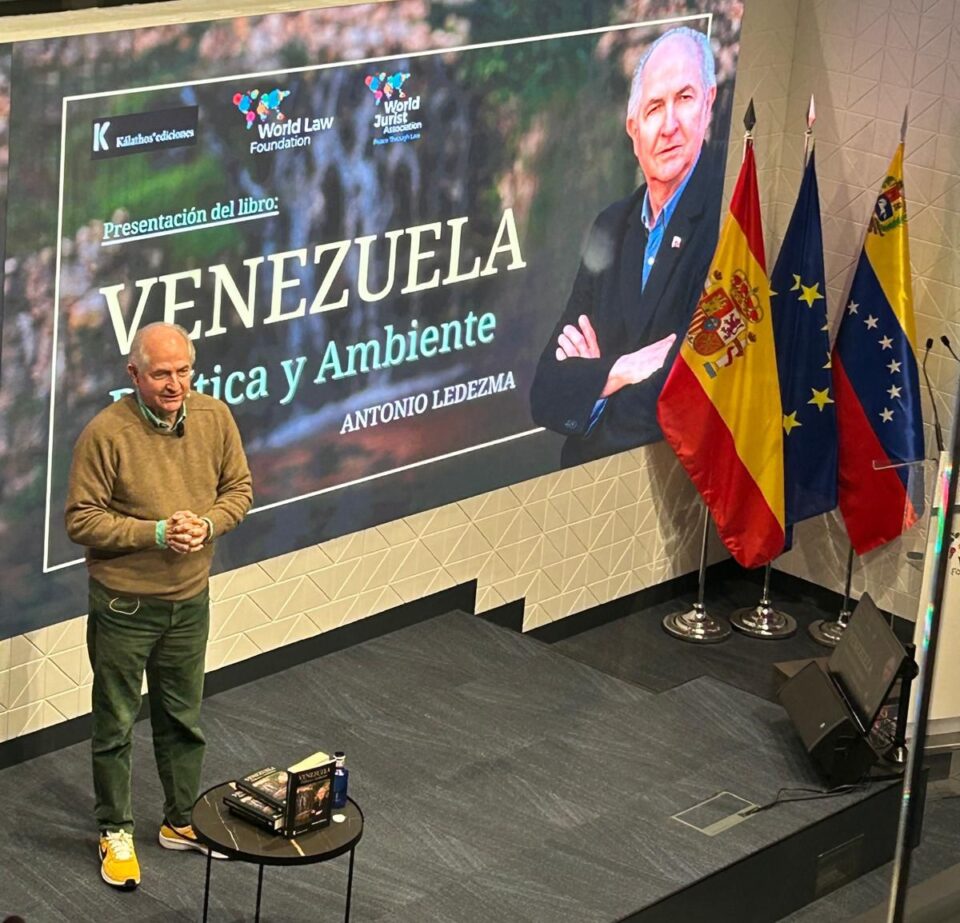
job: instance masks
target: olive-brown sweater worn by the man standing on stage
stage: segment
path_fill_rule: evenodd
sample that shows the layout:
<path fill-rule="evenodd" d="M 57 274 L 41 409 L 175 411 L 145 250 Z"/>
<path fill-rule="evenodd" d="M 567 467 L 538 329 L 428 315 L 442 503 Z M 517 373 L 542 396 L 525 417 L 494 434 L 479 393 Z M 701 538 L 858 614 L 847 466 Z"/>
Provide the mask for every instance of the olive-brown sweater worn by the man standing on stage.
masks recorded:
<path fill-rule="evenodd" d="M 213 546 L 177 554 L 156 544 L 156 524 L 178 510 L 219 537 L 253 502 L 250 469 L 227 406 L 191 392 L 183 435 L 157 429 L 134 395 L 100 411 L 73 450 L 66 524 L 87 548 L 90 576 L 111 590 L 190 599 L 207 585 Z"/>

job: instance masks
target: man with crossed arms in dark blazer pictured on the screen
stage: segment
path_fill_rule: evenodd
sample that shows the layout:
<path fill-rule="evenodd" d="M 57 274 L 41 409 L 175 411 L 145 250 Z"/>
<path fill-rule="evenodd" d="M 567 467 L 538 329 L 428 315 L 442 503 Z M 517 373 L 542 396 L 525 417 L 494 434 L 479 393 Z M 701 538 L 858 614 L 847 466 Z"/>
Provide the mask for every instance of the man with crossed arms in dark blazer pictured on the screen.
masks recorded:
<path fill-rule="evenodd" d="M 704 150 L 717 93 L 707 37 L 661 35 L 640 59 L 626 129 L 644 183 L 594 222 L 540 357 L 534 420 L 580 464 L 663 438 L 656 403 L 717 244 L 722 172 Z"/>

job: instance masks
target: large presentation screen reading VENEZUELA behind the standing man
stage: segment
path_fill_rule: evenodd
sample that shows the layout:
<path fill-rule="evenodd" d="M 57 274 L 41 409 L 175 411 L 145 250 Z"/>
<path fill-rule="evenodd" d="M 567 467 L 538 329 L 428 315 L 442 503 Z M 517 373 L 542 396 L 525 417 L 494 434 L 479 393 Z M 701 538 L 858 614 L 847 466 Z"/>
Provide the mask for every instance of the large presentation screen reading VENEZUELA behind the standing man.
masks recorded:
<path fill-rule="evenodd" d="M 0 46 L 0 636 L 86 611 L 63 526 L 73 445 L 131 393 L 131 340 L 155 321 L 194 341 L 192 386 L 229 405 L 253 472 L 218 569 L 657 438 L 596 438 L 617 396 L 574 382 L 571 401 L 568 372 L 648 344 L 600 319 L 591 344 L 579 313 L 587 339 L 564 341 L 565 311 L 615 269 L 647 298 L 644 243 L 598 257 L 594 218 L 639 227 L 648 185 L 656 208 L 655 182 L 686 178 L 676 213 L 707 202 L 715 235 L 741 6 L 508 6 Z M 673 73 L 685 56 L 692 77 Z M 588 318 L 608 300 L 594 287 Z"/>

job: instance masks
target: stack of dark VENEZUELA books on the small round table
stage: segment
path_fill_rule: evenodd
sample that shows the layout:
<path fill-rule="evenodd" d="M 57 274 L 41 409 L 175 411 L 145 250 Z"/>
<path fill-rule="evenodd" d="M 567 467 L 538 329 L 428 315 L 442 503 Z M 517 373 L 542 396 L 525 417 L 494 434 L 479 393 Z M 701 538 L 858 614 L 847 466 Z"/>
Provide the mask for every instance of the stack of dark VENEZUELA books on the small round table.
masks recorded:
<path fill-rule="evenodd" d="M 298 836 L 330 823 L 334 760 L 322 751 L 288 769 L 267 766 L 231 784 L 230 812 L 271 833 Z"/>

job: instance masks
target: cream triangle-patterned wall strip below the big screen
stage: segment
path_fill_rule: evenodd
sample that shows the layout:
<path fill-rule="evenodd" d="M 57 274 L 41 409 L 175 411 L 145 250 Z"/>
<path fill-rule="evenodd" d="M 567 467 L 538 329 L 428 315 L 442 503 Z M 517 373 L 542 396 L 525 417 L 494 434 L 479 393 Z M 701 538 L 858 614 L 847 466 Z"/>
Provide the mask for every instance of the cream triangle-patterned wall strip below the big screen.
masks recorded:
<path fill-rule="evenodd" d="M 695 569 L 701 509 L 660 445 L 218 574 L 207 669 L 474 579 L 529 630 Z M 0 740 L 89 711 L 85 622 L 0 641 Z"/>

